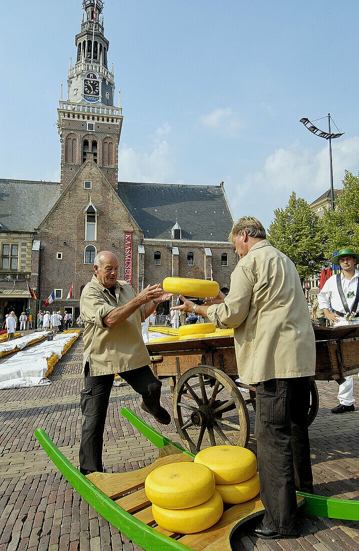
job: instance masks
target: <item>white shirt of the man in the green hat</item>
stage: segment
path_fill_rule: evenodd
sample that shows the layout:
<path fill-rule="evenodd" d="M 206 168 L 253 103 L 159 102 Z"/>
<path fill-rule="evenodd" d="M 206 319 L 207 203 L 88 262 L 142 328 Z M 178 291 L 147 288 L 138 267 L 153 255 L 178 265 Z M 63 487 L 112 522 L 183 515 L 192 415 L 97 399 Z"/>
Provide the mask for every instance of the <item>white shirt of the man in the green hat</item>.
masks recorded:
<path fill-rule="evenodd" d="M 358 281 L 359 281 L 359 271 L 355 270 L 355 273 L 351 279 L 345 277 L 343 272 L 341 272 L 340 280 L 341 280 L 341 287 L 343 289 L 343 293 L 347 301 L 347 305 L 349 307 L 349 310 L 351 310 L 353 302 L 355 301 L 356 290 L 357 290 Z M 354 295 L 348 296 L 348 293 L 354 293 Z M 328 308 L 328 310 L 330 310 L 330 306 L 331 306 L 333 310 L 336 310 L 337 312 L 341 312 L 342 314 L 346 313 L 340 298 L 338 285 L 336 284 L 336 274 L 334 276 L 331 276 L 324 283 L 322 290 L 318 294 L 318 302 L 319 302 L 319 308 L 321 310 L 323 310 L 323 308 Z"/>

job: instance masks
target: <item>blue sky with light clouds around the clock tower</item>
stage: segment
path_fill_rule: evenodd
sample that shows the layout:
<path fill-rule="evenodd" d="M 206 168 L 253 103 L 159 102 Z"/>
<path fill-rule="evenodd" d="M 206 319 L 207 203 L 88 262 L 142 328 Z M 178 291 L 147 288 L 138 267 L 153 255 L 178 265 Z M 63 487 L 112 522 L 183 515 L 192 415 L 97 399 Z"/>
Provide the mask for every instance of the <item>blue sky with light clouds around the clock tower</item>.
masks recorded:
<path fill-rule="evenodd" d="M 0 177 L 59 181 L 55 123 L 81 0 L 2 6 Z M 301 125 L 331 113 L 334 187 L 359 171 L 359 3 L 106 0 L 121 88 L 120 181 L 218 185 L 266 227 L 290 193 L 329 188 L 328 143 Z M 317 125 L 327 129 L 327 120 Z"/>

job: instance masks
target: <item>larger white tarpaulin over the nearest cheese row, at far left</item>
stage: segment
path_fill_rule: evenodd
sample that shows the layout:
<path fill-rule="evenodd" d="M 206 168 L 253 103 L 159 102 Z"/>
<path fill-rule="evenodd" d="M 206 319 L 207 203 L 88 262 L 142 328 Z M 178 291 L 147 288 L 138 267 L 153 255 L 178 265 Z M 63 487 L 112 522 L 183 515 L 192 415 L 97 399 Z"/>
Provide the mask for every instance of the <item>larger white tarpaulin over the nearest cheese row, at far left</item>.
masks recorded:
<path fill-rule="evenodd" d="M 47 358 L 61 352 L 68 342 L 78 333 L 61 333 L 54 335 L 53 341 L 42 341 L 29 350 L 18 352 L 0 364 L 0 389 L 25 386 L 50 385 L 46 377 Z M 19 340 L 19 339 L 17 339 Z"/>

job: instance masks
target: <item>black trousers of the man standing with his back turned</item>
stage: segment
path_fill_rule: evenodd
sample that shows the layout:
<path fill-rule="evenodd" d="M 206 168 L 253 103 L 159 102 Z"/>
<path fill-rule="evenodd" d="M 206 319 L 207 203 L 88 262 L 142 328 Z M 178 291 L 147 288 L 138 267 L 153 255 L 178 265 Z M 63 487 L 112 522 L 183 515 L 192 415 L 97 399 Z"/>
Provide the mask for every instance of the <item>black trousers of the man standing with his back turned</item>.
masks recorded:
<path fill-rule="evenodd" d="M 308 436 L 309 377 L 271 379 L 256 387 L 260 498 L 263 524 L 282 534 L 298 531 L 296 490 L 313 493 Z"/>

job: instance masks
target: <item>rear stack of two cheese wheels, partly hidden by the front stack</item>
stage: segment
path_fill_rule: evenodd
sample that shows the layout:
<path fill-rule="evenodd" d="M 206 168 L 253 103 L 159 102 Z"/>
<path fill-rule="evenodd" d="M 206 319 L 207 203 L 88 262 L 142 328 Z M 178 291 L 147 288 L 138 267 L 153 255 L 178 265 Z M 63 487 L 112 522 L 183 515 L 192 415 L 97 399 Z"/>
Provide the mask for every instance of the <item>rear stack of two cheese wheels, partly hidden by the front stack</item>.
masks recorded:
<path fill-rule="evenodd" d="M 216 491 L 224 503 L 243 503 L 259 493 L 257 459 L 251 450 L 240 446 L 213 446 L 197 453 L 194 461 L 213 471 Z"/>

